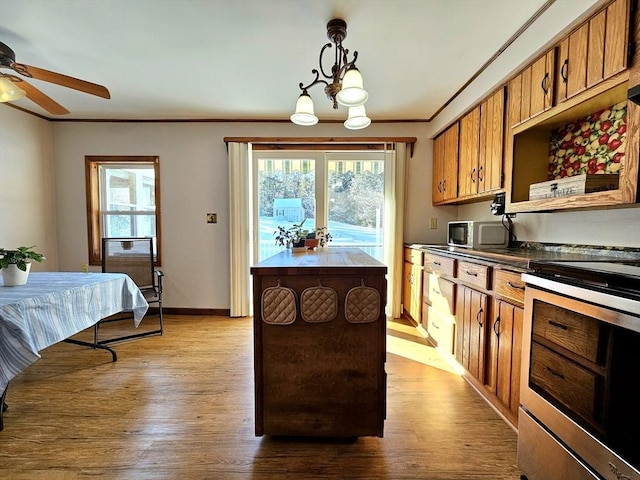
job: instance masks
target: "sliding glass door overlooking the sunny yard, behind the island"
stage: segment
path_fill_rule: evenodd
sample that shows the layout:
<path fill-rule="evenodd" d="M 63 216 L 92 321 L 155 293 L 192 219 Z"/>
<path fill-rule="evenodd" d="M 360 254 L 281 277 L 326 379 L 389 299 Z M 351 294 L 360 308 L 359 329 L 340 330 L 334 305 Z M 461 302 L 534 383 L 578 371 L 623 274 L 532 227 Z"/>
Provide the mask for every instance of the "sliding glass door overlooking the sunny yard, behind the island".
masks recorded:
<path fill-rule="evenodd" d="M 255 151 L 255 258 L 283 249 L 278 226 L 326 226 L 330 246 L 357 246 L 384 259 L 385 153 Z M 388 165 L 387 165 L 387 168 Z"/>

